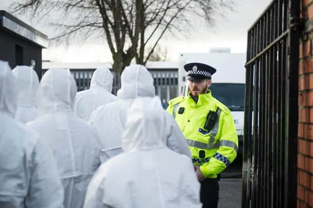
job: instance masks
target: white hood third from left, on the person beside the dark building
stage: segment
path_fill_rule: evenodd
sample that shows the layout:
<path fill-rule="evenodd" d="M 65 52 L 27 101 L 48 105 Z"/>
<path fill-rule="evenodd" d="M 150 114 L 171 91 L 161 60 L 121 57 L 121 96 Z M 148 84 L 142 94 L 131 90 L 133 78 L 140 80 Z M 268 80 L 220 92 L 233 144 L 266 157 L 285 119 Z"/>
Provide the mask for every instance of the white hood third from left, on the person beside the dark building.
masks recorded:
<path fill-rule="evenodd" d="M 76 82 L 68 69 L 49 69 L 38 90 L 39 114 L 72 112 L 76 93 Z"/>

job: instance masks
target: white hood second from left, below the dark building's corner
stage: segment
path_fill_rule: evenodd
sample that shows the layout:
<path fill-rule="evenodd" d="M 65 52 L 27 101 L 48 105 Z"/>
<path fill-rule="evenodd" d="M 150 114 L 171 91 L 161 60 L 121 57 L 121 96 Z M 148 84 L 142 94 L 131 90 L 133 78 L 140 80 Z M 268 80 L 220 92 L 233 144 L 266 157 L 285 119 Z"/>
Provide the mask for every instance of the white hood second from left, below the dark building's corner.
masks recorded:
<path fill-rule="evenodd" d="M 18 105 L 35 107 L 39 79 L 36 72 L 28 66 L 17 66 L 13 69 L 17 78 Z"/>

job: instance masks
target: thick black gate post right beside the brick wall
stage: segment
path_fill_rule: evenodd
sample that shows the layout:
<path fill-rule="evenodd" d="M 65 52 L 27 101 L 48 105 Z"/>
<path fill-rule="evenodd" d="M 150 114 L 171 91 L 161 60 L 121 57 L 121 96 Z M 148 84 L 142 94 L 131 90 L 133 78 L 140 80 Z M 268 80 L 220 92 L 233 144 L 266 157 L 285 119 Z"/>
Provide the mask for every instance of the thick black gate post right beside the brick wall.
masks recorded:
<path fill-rule="evenodd" d="M 285 204 L 296 207 L 296 198 L 293 189 L 297 187 L 297 134 L 298 134 L 298 76 L 299 76 L 299 19 L 300 19 L 300 0 L 291 0 L 290 9 L 290 35 L 289 35 L 289 58 L 288 58 L 288 79 L 287 79 L 287 106 L 286 117 L 286 151 L 285 154 Z M 296 50 L 295 50 L 296 49 Z M 287 78 L 287 77 L 286 77 Z M 292 80 L 292 81 L 291 81 Z M 294 194 L 296 195 L 296 194 Z"/>

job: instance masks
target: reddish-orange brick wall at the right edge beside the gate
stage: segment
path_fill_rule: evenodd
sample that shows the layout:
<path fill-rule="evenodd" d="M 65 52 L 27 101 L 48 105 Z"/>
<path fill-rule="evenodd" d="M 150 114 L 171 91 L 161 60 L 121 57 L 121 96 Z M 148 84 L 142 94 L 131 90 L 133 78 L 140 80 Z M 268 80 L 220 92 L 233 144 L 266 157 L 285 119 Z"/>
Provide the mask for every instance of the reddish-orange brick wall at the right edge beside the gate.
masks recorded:
<path fill-rule="evenodd" d="M 313 0 L 302 0 L 302 18 L 313 19 Z M 313 31 L 300 40 L 297 207 L 313 208 Z"/>

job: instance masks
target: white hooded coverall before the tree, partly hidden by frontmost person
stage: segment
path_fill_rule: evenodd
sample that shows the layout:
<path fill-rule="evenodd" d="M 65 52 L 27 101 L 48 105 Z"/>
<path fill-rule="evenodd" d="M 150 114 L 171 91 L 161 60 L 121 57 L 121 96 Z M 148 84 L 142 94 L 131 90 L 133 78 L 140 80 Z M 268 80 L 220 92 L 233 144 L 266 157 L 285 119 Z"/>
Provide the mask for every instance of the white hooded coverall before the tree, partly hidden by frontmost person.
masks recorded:
<path fill-rule="evenodd" d="M 131 65 L 121 75 L 121 89 L 118 100 L 97 108 L 90 116 L 90 124 L 97 133 L 101 144 L 101 163 L 122 152 L 122 133 L 124 131 L 127 110 L 136 97 L 154 97 L 153 78 L 142 65 Z M 181 154 L 191 157 L 186 139 L 175 119 L 165 110 L 164 137 L 167 146 Z"/>

